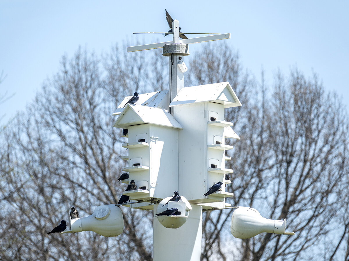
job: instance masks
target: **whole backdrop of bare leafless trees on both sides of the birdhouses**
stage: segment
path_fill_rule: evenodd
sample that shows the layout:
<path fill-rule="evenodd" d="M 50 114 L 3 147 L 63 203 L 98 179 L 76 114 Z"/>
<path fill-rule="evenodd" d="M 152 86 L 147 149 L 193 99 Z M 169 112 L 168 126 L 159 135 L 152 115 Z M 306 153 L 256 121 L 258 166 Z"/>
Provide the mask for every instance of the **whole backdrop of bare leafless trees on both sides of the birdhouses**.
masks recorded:
<path fill-rule="evenodd" d="M 205 212 L 201 259 L 348 261 L 348 116 L 339 98 L 297 69 L 279 73 L 272 88 L 263 74 L 258 83 L 236 51 L 217 46 L 188 62 L 185 85 L 229 81 L 243 104 L 226 111 L 241 138 L 227 141 L 235 194 L 227 201 L 287 218 L 296 235 L 235 239 L 232 209 Z M 87 216 L 118 201 L 126 140 L 111 113 L 135 90 L 166 89 L 167 62 L 161 51 L 125 54 L 118 46 L 103 62 L 81 49 L 62 57 L 60 71 L 0 133 L 1 260 L 152 260 L 151 211 L 121 207 L 118 237 L 46 232 L 71 206 Z"/>

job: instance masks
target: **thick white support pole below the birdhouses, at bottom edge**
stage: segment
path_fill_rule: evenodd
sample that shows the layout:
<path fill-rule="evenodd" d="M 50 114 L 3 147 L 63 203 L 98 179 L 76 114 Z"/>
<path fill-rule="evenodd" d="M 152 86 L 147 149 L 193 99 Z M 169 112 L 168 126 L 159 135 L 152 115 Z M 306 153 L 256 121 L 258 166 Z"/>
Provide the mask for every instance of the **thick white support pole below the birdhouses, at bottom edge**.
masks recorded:
<path fill-rule="evenodd" d="M 177 229 L 165 228 L 155 217 L 154 261 L 200 261 L 202 239 L 202 207 L 193 204 L 188 219 Z"/>

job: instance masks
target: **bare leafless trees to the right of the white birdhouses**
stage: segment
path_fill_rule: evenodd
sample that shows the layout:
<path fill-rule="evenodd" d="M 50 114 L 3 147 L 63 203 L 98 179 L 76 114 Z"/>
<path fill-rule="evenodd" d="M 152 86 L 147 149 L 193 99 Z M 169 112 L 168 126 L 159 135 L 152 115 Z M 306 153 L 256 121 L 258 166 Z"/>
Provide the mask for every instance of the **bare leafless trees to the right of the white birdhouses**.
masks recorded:
<path fill-rule="evenodd" d="M 227 57 L 224 48 L 217 49 L 207 48 L 203 53 L 209 54 L 199 55 L 193 63 L 197 64 L 191 68 L 193 84 L 209 83 L 216 76 L 221 78 L 215 81 L 234 82 L 222 70 L 223 63 L 217 62 L 217 57 Z M 239 115 L 226 113 L 241 137 L 230 141 L 235 145 L 228 163 L 234 169 L 235 196 L 227 201 L 257 208 L 270 219 L 287 218 L 287 227 L 296 236 L 261 234 L 233 240 L 240 247 L 228 248 L 226 241 L 231 239 L 222 231 L 229 229 L 233 210 L 208 212 L 203 220 L 202 260 L 326 260 L 329 256 L 319 246 L 336 233 L 333 222 L 348 201 L 337 193 L 341 188 L 348 195 L 348 187 L 340 186 L 348 179 L 347 112 L 336 95 L 325 93 L 316 74 L 306 80 L 295 69 L 288 79 L 279 73 L 274 88 L 265 86 L 263 74 L 261 84 L 250 84 L 254 91 L 242 85 L 242 94 L 248 96 L 240 98 L 236 91 L 243 104 Z M 348 218 L 343 222 L 344 235 Z"/>

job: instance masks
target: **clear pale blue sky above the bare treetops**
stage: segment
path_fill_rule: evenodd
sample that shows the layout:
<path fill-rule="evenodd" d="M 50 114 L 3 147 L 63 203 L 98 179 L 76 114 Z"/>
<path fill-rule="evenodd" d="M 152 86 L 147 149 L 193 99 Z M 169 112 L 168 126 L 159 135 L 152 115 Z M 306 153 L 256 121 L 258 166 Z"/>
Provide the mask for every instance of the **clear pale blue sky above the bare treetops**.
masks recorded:
<path fill-rule="evenodd" d="M 231 33 L 223 41 L 239 51 L 240 62 L 257 79 L 262 67 L 269 84 L 278 68 L 287 75 L 297 66 L 307 77 L 314 71 L 348 107 L 349 1 L 2 0 L 0 72 L 6 78 L 0 94 L 15 95 L 0 104 L 0 115 L 7 119 L 24 110 L 58 71 L 62 55 L 72 57 L 79 45 L 99 55 L 127 40 L 170 41 L 170 36 L 132 34 L 167 31 L 165 8 L 182 32 Z M 189 47 L 189 70 L 199 45 Z"/>

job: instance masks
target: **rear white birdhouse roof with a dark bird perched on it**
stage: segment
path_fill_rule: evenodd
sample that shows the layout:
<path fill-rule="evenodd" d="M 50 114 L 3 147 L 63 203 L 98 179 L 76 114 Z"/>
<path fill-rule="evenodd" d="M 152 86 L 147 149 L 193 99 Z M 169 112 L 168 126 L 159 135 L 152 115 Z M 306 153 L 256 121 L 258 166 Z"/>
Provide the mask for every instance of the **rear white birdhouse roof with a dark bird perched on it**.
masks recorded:
<path fill-rule="evenodd" d="M 144 105 L 149 106 L 153 108 L 161 108 L 161 109 L 168 109 L 168 102 L 165 102 L 166 99 L 168 99 L 168 92 L 169 90 L 161 90 L 159 92 L 151 92 L 151 93 L 143 93 L 139 94 L 139 100 L 136 102 L 137 105 Z M 124 109 L 124 105 L 126 102 L 132 97 L 127 96 L 122 100 L 122 102 L 119 104 L 118 108 L 113 112 L 112 115 L 118 115 L 122 112 Z"/>

